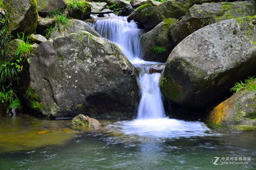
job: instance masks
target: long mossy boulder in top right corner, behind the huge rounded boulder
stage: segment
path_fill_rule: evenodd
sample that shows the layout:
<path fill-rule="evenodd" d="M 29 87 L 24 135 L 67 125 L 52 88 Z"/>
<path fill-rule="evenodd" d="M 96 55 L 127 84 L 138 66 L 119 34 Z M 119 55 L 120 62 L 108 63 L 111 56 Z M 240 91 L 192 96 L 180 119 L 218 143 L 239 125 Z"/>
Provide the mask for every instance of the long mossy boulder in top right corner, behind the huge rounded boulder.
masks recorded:
<path fill-rule="evenodd" d="M 256 15 L 256 2 L 218 2 L 194 5 L 170 30 L 170 37 L 177 45 L 182 39 L 206 25 L 247 15 Z"/>

